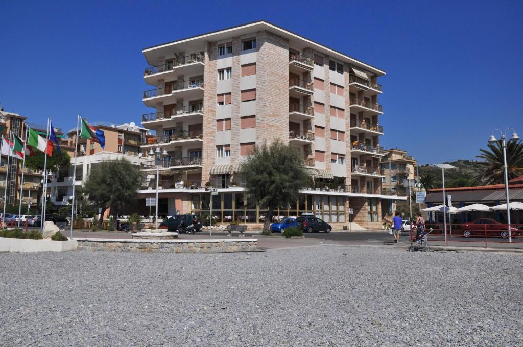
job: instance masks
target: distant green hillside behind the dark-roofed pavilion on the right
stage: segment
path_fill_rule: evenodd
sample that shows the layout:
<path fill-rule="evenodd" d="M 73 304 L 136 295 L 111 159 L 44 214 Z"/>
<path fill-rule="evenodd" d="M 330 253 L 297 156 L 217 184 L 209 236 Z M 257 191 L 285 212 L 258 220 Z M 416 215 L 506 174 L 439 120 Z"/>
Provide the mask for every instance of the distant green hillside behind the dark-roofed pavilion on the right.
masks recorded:
<path fill-rule="evenodd" d="M 448 161 L 445 164 L 457 167 L 457 169 L 445 170 L 445 188 L 480 186 L 477 183 L 473 184 L 471 179 L 475 175 L 483 173 L 487 167 L 485 161 L 477 160 L 456 160 Z M 421 176 L 424 173 L 432 173 L 436 177 L 435 188 L 443 187 L 441 183 L 441 169 L 428 165 L 420 166 L 419 175 Z"/>

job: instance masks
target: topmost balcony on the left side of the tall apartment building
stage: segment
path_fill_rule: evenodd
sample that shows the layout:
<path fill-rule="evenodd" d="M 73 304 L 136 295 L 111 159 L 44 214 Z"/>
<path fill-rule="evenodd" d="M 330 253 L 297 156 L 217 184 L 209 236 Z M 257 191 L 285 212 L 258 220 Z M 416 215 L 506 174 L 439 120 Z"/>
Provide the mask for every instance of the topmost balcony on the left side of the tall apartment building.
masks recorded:
<path fill-rule="evenodd" d="M 173 72 L 175 71 L 176 75 L 203 72 L 204 60 L 204 56 L 200 53 L 167 59 L 162 65 L 146 67 L 143 78 L 146 83 L 156 85 L 159 79 L 168 80 L 171 75 L 174 78 Z"/>

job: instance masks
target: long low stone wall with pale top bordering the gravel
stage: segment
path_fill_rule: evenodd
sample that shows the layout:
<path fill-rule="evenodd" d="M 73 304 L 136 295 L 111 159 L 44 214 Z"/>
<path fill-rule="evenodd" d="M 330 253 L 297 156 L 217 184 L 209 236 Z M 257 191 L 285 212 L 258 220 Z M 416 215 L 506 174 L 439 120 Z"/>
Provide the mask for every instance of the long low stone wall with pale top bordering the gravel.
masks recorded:
<path fill-rule="evenodd" d="M 162 253 L 225 253 L 257 250 L 257 239 L 207 239 L 207 240 L 121 240 L 121 239 L 75 239 L 78 249 L 117 252 Z"/>

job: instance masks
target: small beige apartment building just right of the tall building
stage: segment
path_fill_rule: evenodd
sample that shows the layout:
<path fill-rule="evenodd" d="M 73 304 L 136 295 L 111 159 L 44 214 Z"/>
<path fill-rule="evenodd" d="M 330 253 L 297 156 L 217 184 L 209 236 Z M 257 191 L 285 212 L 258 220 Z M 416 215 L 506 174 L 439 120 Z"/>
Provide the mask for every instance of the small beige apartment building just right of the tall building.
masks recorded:
<path fill-rule="evenodd" d="M 381 159 L 380 169 L 383 172 L 383 189 L 390 189 L 392 194 L 406 196 L 405 180 L 416 178 L 417 162 L 413 156 L 407 155 L 403 149 L 386 149 Z"/>

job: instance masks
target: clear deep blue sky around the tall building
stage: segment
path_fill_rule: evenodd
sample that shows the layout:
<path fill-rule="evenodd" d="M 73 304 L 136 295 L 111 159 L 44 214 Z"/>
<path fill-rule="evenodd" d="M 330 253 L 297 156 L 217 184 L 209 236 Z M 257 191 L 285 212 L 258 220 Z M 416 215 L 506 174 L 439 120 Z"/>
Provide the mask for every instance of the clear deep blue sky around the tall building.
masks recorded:
<path fill-rule="evenodd" d="M 381 145 L 420 164 L 473 159 L 491 130 L 523 135 L 518 1 L 0 2 L 0 102 L 64 130 L 141 122 L 141 50 L 265 19 L 387 72 Z M 314 4 L 326 4 L 314 10 Z"/>

